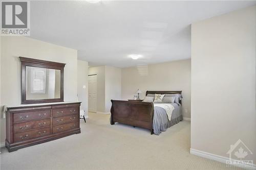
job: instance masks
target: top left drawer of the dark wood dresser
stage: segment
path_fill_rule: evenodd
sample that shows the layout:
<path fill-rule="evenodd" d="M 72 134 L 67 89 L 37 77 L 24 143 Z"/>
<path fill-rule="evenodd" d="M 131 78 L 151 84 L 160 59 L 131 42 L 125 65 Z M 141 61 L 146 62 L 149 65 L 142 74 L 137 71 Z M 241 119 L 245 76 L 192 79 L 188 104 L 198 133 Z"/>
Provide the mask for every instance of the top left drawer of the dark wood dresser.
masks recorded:
<path fill-rule="evenodd" d="M 24 122 L 27 120 L 51 117 L 51 110 L 27 111 L 13 114 L 13 122 Z"/>

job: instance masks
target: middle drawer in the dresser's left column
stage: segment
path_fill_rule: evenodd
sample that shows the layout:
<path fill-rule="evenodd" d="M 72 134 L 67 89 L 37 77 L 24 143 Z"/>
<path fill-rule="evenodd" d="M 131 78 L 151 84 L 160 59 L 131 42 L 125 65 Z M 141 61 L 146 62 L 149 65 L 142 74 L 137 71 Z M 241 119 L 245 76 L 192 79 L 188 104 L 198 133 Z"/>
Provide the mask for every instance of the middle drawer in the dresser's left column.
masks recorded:
<path fill-rule="evenodd" d="M 22 132 L 26 130 L 31 129 L 37 129 L 37 128 L 44 128 L 51 126 L 51 120 L 48 119 L 40 119 L 40 120 L 34 120 L 30 122 L 23 122 L 23 123 L 17 123 L 13 125 L 13 132 Z"/>

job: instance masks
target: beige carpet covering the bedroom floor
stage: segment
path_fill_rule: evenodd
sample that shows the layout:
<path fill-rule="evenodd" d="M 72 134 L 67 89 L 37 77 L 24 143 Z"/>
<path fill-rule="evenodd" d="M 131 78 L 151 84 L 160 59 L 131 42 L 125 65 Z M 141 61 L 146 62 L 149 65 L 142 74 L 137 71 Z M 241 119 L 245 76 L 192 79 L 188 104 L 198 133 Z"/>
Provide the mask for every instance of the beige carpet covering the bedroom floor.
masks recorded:
<path fill-rule="evenodd" d="M 81 134 L 8 153 L 4 169 L 231 169 L 189 154 L 190 123 L 180 122 L 159 136 L 109 123 L 110 115 L 89 113 Z"/>

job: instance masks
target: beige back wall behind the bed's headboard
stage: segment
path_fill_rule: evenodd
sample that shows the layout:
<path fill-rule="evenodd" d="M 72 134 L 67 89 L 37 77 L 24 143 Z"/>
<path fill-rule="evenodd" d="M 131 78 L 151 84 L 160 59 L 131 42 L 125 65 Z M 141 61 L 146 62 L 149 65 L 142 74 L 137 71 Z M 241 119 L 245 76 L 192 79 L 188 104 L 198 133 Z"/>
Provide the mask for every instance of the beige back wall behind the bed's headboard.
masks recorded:
<path fill-rule="evenodd" d="M 137 67 L 123 68 L 122 100 L 132 99 L 138 88 L 141 99 L 146 90 L 182 90 L 182 114 L 190 117 L 190 64 L 188 59 L 148 65 L 147 76 L 140 76 Z"/>

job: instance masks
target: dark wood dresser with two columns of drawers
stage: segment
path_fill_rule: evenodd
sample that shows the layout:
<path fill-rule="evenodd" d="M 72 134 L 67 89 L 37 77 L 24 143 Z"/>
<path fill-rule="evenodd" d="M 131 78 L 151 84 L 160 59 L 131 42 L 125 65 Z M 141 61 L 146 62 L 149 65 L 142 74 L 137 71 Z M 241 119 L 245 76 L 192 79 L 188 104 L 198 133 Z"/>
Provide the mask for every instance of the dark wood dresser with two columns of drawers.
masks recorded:
<path fill-rule="evenodd" d="M 9 152 L 80 131 L 80 104 L 54 103 L 6 107 L 6 142 Z"/>

